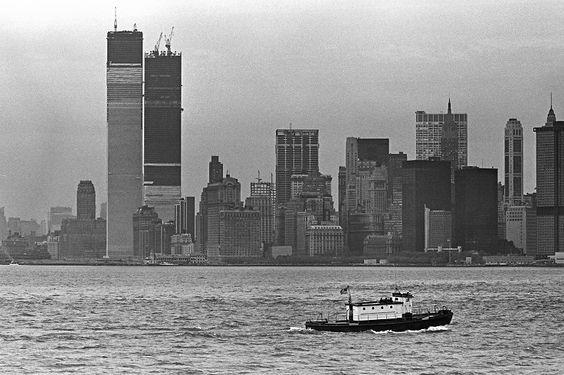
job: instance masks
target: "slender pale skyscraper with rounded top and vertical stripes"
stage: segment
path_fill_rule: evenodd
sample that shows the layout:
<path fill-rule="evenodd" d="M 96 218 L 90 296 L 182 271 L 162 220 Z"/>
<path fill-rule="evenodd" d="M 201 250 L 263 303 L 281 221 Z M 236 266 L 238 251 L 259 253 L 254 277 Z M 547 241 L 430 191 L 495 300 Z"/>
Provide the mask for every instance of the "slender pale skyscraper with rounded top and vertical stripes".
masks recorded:
<path fill-rule="evenodd" d="M 505 201 L 519 205 L 523 201 L 523 127 L 510 118 L 505 125 Z"/>

